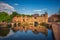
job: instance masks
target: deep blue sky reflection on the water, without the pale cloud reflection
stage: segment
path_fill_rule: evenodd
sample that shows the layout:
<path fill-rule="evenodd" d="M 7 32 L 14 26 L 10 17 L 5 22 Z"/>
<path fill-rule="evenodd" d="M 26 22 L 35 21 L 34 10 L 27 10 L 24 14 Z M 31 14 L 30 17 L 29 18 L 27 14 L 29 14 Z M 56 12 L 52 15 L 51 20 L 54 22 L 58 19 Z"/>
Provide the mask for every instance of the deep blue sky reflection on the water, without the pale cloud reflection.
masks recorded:
<path fill-rule="evenodd" d="M 31 30 L 28 30 L 27 32 L 17 31 L 7 38 L 1 38 L 1 40 L 53 40 L 51 30 L 48 31 L 47 36 L 42 33 L 36 35 Z"/>

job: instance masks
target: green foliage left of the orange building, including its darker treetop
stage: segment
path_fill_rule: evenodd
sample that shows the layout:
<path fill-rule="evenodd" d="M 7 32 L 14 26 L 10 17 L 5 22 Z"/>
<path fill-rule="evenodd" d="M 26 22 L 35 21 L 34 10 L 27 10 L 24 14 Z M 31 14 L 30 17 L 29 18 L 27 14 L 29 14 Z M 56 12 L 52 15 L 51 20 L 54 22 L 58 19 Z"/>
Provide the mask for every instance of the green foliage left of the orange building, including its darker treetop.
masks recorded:
<path fill-rule="evenodd" d="M 14 16 L 20 16 L 17 12 L 13 12 L 11 15 L 8 15 L 6 12 L 0 12 L 0 22 L 11 22 Z"/>

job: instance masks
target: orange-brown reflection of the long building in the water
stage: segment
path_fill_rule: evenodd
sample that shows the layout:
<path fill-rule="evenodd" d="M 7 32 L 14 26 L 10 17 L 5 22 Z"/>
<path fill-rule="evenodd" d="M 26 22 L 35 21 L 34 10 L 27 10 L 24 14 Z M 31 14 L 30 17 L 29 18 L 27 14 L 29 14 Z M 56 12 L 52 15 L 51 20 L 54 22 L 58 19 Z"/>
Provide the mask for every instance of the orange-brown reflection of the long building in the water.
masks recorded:
<path fill-rule="evenodd" d="M 38 34 L 38 33 L 43 33 L 43 34 L 47 34 L 47 28 L 46 27 L 42 27 L 42 26 L 37 26 L 37 27 L 34 27 L 34 26 L 20 26 L 20 27 L 13 27 L 12 30 L 14 32 L 20 30 L 21 32 L 22 31 L 25 31 L 27 32 L 28 30 L 32 30 L 32 32 L 34 34 Z"/>

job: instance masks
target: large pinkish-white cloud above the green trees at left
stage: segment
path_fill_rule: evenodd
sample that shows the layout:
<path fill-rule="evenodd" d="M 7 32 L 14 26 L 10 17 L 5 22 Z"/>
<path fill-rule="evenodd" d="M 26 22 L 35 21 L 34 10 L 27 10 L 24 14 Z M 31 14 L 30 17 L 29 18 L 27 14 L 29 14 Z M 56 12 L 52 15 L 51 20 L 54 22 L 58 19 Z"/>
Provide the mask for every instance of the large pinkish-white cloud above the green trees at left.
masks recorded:
<path fill-rule="evenodd" d="M 15 11 L 14 7 L 7 3 L 0 3 L 0 11 L 5 11 L 8 13 L 12 13 L 12 11 Z"/>

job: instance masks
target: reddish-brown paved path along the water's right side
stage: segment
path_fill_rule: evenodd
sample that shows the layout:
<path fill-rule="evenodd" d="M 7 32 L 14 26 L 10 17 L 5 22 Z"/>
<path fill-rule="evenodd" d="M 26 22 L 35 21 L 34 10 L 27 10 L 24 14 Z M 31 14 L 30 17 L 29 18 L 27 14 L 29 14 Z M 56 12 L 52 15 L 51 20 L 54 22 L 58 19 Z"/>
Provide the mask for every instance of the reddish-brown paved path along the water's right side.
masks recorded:
<path fill-rule="evenodd" d="M 50 24 L 52 24 L 52 29 L 53 29 L 55 39 L 60 40 L 60 24 L 57 23 L 50 23 Z"/>

